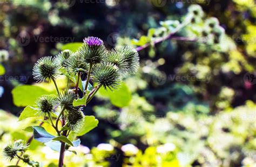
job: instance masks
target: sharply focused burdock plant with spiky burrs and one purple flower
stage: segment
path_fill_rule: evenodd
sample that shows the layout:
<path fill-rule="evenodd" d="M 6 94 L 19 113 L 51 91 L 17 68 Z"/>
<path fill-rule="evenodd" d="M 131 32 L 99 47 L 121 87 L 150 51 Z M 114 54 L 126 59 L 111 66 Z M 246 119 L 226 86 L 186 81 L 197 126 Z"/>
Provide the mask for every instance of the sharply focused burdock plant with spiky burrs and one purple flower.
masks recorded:
<path fill-rule="evenodd" d="M 107 51 L 103 41 L 97 37 L 85 38 L 77 52 L 64 50 L 56 57 L 39 59 L 33 67 L 34 79 L 38 82 L 53 82 L 57 94 L 40 96 L 36 105 L 28 106 L 30 110 L 26 107 L 22 114 L 41 117 L 43 123 L 49 123 L 56 130 L 56 134 L 49 134 L 42 127 L 42 123 L 41 126 L 32 126 L 25 130 L 33 131 L 35 140 L 58 150 L 58 166 L 63 166 L 65 151 L 70 146 L 78 147 L 80 144 L 77 136 L 82 136 L 88 129 L 97 126 L 98 121 L 95 118 L 86 121 L 92 118 L 83 113 L 87 103 L 101 87 L 110 91 L 118 89 L 124 76 L 136 73 L 138 67 L 139 56 L 136 50 L 129 46 L 118 46 Z M 60 75 L 67 78 L 65 89 L 60 89 L 57 85 L 56 80 Z M 34 113 L 31 113 L 31 109 Z M 52 143 L 55 145 L 51 145 Z M 34 165 L 28 155 L 23 155 L 25 148 L 26 146 L 22 147 L 16 142 L 6 146 L 4 155 L 10 161 L 19 158 L 24 163 Z"/>

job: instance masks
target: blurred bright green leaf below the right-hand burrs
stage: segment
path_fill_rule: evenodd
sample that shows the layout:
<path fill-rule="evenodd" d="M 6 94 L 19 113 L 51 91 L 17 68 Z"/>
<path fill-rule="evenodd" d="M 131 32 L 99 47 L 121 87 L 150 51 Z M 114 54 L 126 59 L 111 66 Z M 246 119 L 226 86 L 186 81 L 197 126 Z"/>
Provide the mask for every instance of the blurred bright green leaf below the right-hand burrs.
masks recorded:
<path fill-rule="evenodd" d="M 109 98 L 112 105 L 117 107 L 128 106 L 132 99 L 131 91 L 124 82 L 121 83 L 119 89 L 114 91 L 110 91 L 109 89 L 106 91 L 102 87 L 99 89 L 99 94 Z"/>

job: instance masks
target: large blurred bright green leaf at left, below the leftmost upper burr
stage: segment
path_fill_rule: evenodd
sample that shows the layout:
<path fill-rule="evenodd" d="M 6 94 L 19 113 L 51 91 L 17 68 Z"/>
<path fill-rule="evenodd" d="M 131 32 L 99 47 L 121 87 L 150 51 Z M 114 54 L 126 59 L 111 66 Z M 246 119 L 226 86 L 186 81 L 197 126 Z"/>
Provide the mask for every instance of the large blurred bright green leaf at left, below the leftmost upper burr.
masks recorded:
<path fill-rule="evenodd" d="M 35 100 L 46 94 L 51 94 L 45 89 L 32 86 L 32 85 L 21 85 L 17 86 L 11 91 L 14 104 L 18 107 L 32 106 L 35 105 Z"/>

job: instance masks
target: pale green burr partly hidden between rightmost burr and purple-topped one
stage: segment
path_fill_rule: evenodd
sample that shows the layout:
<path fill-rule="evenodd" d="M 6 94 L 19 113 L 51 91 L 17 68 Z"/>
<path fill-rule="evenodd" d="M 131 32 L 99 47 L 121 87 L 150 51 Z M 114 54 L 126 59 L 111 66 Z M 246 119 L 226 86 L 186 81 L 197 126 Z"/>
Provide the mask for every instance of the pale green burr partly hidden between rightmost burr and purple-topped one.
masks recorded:
<path fill-rule="evenodd" d="M 128 63 L 125 61 L 124 55 L 118 53 L 116 50 L 109 51 L 104 60 L 116 65 L 119 68 L 121 74 L 125 74 L 127 72 Z"/>

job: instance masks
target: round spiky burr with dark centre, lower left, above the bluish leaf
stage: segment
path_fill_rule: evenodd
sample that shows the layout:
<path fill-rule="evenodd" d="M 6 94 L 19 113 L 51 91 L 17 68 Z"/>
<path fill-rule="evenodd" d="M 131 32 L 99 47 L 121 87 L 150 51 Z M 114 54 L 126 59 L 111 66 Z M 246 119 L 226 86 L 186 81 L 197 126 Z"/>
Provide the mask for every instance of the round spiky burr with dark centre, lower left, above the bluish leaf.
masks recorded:
<path fill-rule="evenodd" d="M 39 116 L 52 115 L 57 106 L 57 100 L 55 96 L 43 95 L 36 100 L 36 105 L 39 110 Z"/>

